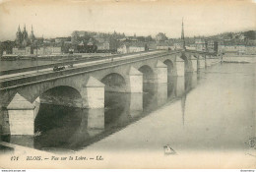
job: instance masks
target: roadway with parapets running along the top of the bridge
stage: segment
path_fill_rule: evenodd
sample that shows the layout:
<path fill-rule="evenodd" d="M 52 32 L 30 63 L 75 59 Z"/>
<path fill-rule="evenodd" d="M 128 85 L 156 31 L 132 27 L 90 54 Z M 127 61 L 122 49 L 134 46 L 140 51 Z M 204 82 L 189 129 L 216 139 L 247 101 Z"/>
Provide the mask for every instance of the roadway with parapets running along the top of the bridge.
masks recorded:
<path fill-rule="evenodd" d="M 172 51 L 171 53 L 179 53 L 179 51 Z M 166 51 L 151 51 L 142 52 L 140 54 L 125 55 L 121 57 L 107 58 L 103 60 L 96 60 L 91 62 L 84 62 L 79 64 L 74 64 L 73 68 L 66 68 L 65 70 L 54 72 L 52 68 L 41 69 L 37 71 L 16 73 L 10 75 L 0 76 L 0 90 L 6 90 L 10 88 L 15 88 L 19 86 L 27 86 L 35 83 L 40 83 L 49 80 L 55 80 L 59 78 L 70 77 L 74 75 L 79 75 L 82 73 L 90 72 L 92 70 L 108 68 L 110 66 L 119 66 L 123 63 L 134 63 L 136 59 L 138 61 L 156 58 L 158 56 L 169 54 Z M 149 56 L 150 55 L 150 56 Z"/>

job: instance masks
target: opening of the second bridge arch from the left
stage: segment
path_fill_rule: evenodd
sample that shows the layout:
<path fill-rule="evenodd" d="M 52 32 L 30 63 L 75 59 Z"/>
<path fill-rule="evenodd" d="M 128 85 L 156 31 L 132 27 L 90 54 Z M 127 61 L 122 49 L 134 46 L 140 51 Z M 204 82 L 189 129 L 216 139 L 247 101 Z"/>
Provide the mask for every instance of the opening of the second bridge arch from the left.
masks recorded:
<path fill-rule="evenodd" d="M 125 79 L 117 73 L 110 73 L 106 76 L 104 76 L 101 79 L 101 83 L 105 85 L 105 90 L 108 91 L 116 91 L 118 90 L 125 90 L 126 88 L 126 82 Z"/>

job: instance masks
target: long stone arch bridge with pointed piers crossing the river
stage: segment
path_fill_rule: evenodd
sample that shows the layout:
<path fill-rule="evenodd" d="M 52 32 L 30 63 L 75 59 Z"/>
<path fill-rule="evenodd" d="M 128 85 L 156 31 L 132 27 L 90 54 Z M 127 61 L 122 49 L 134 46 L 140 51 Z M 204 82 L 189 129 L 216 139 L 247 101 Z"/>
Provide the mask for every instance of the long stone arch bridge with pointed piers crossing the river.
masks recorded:
<path fill-rule="evenodd" d="M 6 78 L 0 80 L 1 134 L 33 135 L 39 102 L 100 109 L 104 91 L 143 92 L 145 83 L 168 83 L 168 76 L 184 76 L 219 62 L 214 53 L 153 51 Z"/>

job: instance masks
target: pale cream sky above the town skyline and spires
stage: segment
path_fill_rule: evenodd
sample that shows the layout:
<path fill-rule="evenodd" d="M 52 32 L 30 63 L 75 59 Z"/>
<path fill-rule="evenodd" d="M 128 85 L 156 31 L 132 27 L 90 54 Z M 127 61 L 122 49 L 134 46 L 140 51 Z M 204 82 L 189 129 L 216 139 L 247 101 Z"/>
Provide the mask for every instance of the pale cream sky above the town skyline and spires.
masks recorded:
<path fill-rule="evenodd" d="M 19 0 L 0 4 L 0 41 L 14 40 L 19 25 L 44 38 L 73 30 L 180 37 L 256 29 L 256 3 L 243 0 Z"/>

